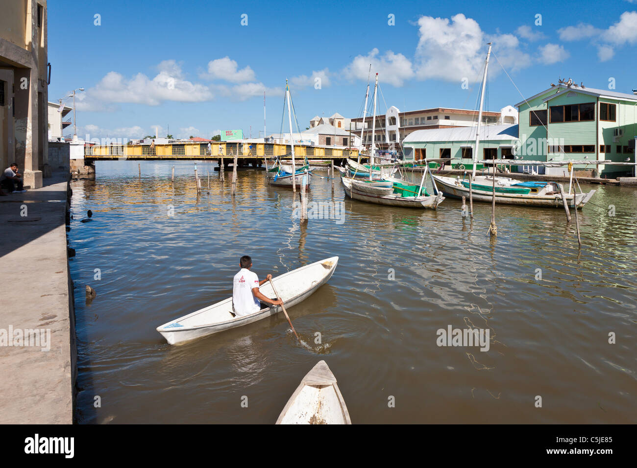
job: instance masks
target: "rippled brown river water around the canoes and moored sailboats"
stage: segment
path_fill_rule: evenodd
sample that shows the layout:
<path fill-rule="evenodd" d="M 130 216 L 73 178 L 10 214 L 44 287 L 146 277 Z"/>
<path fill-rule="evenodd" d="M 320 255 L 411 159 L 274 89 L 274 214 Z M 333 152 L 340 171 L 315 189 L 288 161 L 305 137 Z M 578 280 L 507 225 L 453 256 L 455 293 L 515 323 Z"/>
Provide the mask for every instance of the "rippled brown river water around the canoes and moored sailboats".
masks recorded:
<path fill-rule="evenodd" d="M 344 218 L 299 225 L 291 192 L 262 172 L 239 173 L 233 202 L 211 164 L 197 164 L 204 187 L 211 172 L 199 198 L 192 162 L 174 165 L 174 183 L 173 163 L 143 163 L 138 178 L 127 161 L 72 183 L 78 422 L 271 424 L 320 359 L 353 423 L 637 421 L 634 189 L 585 187 L 598 193 L 580 213 L 578 252 L 560 209 L 497 206 L 491 241 L 489 204 L 475 204 L 471 225 L 459 201 L 376 206 L 345 199 L 337 178 Z M 332 201 L 329 180 L 314 178 L 310 201 Z M 340 257 L 289 309 L 311 349 L 283 316 L 165 343 L 155 327 L 229 297 L 244 254 L 260 278 Z M 489 350 L 438 346 L 448 325 L 488 329 Z"/>

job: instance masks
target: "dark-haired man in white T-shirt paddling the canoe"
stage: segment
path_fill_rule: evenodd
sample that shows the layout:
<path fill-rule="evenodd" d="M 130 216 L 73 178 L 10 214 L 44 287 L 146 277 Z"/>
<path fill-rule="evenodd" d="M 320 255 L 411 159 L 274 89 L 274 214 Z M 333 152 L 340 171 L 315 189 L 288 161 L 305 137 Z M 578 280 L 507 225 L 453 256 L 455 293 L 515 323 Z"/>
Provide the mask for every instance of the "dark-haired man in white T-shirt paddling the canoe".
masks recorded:
<path fill-rule="evenodd" d="M 280 299 L 270 299 L 259 291 L 259 287 L 272 278 L 271 274 L 268 274 L 265 280 L 259 281 L 257 274 L 250 271 L 252 259 L 248 255 L 241 257 L 239 266 L 241 269 L 234 275 L 233 280 L 233 310 L 236 316 L 250 315 L 261 310 L 261 303 L 264 304 L 264 308 L 269 304 L 283 304 Z"/>

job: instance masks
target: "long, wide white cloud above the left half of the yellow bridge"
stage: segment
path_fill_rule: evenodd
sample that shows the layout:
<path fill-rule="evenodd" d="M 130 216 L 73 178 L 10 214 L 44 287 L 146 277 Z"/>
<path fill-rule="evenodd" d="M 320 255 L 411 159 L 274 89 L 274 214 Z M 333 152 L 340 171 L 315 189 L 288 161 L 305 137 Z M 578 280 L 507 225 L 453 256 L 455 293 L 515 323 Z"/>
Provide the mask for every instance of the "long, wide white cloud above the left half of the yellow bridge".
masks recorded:
<path fill-rule="evenodd" d="M 150 79 L 143 73 L 125 78 L 116 71 L 107 73 L 97 84 L 77 95 L 78 110 L 113 110 L 112 103 L 134 103 L 157 106 L 164 101 L 199 103 L 210 101 L 213 94 L 207 86 L 183 78 L 175 60 L 164 60 L 159 73 Z"/>

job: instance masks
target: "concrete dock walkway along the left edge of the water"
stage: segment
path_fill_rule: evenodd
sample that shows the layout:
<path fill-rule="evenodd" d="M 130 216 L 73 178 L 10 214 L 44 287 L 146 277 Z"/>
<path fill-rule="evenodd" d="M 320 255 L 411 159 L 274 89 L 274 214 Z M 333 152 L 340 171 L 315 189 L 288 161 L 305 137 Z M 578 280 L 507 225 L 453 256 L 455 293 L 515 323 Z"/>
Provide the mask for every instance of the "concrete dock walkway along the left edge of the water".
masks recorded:
<path fill-rule="evenodd" d="M 41 188 L 0 197 L 0 423 L 73 422 L 68 179 L 68 173 L 54 173 Z"/>

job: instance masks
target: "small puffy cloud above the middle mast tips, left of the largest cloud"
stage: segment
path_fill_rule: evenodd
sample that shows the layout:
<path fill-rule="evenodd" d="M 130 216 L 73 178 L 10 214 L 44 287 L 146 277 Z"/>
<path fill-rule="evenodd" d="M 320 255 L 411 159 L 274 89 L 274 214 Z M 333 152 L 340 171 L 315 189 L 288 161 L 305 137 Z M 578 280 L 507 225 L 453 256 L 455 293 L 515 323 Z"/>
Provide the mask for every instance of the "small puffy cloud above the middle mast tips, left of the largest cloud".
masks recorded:
<path fill-rule="evenodd" d="M 378 53 L 378 49 L 373 48 L 367 55 L 357 55 L 352 63 L 343 69 L 345 78 L 367 81 L 369 64 L 371 64 L 370 81 L 373 81 L 374 73 L 378 73 L 379 82 L 401 87 L 405 80 L 414 76 L 412 62 L 402 53 L 394 53 L 391 50 L 385 52 L 385 55 L 378 55 Z"/>

